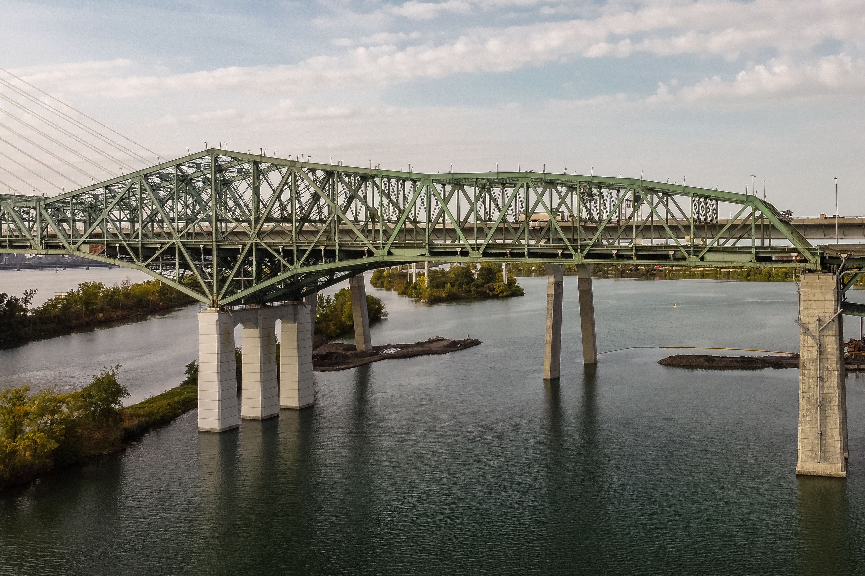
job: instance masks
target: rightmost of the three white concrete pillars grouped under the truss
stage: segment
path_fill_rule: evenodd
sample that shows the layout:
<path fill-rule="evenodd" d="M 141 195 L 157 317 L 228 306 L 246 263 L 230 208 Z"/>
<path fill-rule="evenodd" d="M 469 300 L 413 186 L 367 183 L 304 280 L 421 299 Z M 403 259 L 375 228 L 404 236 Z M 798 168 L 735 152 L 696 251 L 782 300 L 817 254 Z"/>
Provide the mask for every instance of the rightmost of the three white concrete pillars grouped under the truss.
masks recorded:
<path fill-rule="evenodd" d="M 306 408 L 316 402 L 310 305 L 288 308 L 279 318 L 279 408 Z"/>

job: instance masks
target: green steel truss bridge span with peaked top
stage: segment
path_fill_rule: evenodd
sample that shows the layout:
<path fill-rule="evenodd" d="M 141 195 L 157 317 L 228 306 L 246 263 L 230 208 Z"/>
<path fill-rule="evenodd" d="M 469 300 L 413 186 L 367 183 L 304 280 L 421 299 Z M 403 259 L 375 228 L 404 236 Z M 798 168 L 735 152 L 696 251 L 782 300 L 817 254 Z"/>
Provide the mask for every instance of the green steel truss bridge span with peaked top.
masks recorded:
<path fill-rule="evenodd" d="M 719 205 L 734 216 L 721 218 Z M 789 212 L 751 195 L 573 174 L 417 174 L 222 149 L 52 198 L 0 194 L 0 252 L 138 269 L 210 307 L 299 301 L 368 269 L 423 261 L 840 262 L 811 246 Z"/>

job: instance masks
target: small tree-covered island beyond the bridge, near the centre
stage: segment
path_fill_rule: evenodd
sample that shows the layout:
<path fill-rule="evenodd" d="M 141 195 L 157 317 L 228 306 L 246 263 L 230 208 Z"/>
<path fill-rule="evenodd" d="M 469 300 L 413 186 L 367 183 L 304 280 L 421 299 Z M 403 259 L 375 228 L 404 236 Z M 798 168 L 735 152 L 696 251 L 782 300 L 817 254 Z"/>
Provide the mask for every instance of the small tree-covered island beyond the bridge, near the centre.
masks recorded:
<path fill-rule="evenodd" d="M 409 275 L 408 271 L 380 268 L 373 272 L 369 283 L 375 288 L 394 290 L 400 296 L 420 298 L 420 301 L 430 304 L 470 298 L 513 298 L 525 294 L 510 271 L 505 283 L 501 267 L 490 263 L 482 263 L 480 267 L 454 263 L 448 269 L 430 269 L 428 282 L 422 271 L 418 273 L 417 282 L 410 282 Z"/>

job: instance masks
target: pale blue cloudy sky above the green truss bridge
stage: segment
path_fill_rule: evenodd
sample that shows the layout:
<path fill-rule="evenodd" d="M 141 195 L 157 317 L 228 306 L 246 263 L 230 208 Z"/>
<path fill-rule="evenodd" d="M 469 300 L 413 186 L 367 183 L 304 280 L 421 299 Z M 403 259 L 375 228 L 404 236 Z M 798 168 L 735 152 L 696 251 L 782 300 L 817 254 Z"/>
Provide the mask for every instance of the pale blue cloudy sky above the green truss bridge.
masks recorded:
<path fill-rule="evenodd" d="M 131 168 L 221 143 L 755 184 L 794 216 L 836 213 L 836 178 L 865 214 L 863 53 L 862 0 L 0 0 L 0 67 L 143 144 Z M 27 187 L 16 157 L 0 180 Z M 36 168 L 45 192 L 90 183 L 68 163 Z"/>

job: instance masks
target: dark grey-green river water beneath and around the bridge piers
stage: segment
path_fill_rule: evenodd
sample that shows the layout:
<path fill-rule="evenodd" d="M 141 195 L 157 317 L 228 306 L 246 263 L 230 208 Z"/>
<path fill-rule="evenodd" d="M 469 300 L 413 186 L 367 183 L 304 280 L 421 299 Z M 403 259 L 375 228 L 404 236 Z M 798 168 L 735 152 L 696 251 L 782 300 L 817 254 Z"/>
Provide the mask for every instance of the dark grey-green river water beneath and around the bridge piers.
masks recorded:
<path fill-rule="evenodd" d="M 316 373 L 314 408 L 224 434 L 197 433 L 193 411 L 123 453 L 6 491 L 0 573 L 862 567 L 865 377 L 848 378 L 849 478 L 798 478 L 798 370 L 657 364 L 681 352 L 660 345 L 798 350 L 793 283 L 595 280 L 599 350 L 631 349 L 584 368 L 576 278 L 566 277 L 562 377 L 545 384 L 546 279 L 520 282 L 523 298 L 432 307 L 370 287 L 390 312 L 372 328 L 376 344 L 484 344 Z M 23 366 L 31 360 L 15 358 L 36 358 L 37 345 L 56 377 L 66 364 L 93 373 L 102 358 L 88 372 L 80 356 L 134 330 L 116 362 L 179 381 L 194 315 L 42 340 L 0 351 L 0 362 Z M 846 327 L 858 337 L 858 321 Z M 138 395 L 152 388 L 127 382 Z"/>

